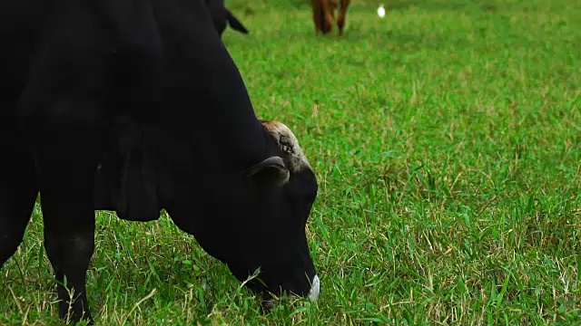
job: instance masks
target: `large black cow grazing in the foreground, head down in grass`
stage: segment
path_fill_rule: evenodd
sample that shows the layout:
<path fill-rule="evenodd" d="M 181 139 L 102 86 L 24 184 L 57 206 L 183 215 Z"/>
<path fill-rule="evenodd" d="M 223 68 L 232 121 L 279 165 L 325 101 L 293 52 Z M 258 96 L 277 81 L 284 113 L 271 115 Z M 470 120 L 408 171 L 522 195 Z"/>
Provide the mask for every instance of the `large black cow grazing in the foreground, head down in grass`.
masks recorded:
<path fill-rule="evenodd" d="M 61 317 L 92 320 L 99 208 L 129 220 L 164 208 L 239 280 L 260 267 L 254 292 L 319 294 L 305 235 L 315 175 L 290 129 L 257 120 L 204 6 L 0 2 L 0 266 L 40 192 Z"/>

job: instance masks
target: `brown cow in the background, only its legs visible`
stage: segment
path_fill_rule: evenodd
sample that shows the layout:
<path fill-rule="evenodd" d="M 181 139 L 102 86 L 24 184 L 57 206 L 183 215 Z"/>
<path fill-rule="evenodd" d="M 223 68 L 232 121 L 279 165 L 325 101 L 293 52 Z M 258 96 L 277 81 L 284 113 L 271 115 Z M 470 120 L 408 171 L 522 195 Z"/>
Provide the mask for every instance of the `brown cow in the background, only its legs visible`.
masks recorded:
<path fill-rule="evenodd" d="M 315 34 L 319 34 L 319 32 L 323 34 L 330 33 L 335 21 L 335 9 L 340 7 L 337 26 L 339 27 L 339 36 L 341 36 L 343 34 L 343 26 L 345 26 L 347 7 L 350 2 L 351 0 L 310 0 L 312 20 L 315 23 Z"/>

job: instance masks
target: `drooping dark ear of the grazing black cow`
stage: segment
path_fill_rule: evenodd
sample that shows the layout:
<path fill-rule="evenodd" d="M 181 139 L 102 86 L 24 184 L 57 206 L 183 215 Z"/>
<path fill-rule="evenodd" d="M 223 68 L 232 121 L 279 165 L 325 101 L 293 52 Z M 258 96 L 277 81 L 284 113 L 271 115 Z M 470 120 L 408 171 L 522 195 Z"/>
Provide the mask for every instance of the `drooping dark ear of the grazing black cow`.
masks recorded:
<path fill-rule="evenodd" d="M 281 157 L 266 158 L 246 170 L 246 177 L 259 186 L 281 187 L 291 177 L 291 172 L 284 165 Z"/>

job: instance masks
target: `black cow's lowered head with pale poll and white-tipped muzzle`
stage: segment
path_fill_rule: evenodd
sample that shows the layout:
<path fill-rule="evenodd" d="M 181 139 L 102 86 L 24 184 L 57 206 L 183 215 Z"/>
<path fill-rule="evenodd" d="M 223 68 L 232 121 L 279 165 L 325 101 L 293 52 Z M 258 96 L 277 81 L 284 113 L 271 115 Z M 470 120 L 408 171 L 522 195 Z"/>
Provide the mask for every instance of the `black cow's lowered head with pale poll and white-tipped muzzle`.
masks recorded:
<path fill-rule="evenodd" d="M 248 261 L 229 264 L 239 279 L 261 268 L 254 291 L 280 294 L 287 291 L 316 300 L 320 281 L 310 258 L 305 235 L 307 218 L 317 197 L 317 179 L 299 142 L 287 126 L 263 121 L 275 153 L 249 168 L 245 177 L 251 185 L 252 200 L 261 207 L 261 225 L 250 239 Z"/>

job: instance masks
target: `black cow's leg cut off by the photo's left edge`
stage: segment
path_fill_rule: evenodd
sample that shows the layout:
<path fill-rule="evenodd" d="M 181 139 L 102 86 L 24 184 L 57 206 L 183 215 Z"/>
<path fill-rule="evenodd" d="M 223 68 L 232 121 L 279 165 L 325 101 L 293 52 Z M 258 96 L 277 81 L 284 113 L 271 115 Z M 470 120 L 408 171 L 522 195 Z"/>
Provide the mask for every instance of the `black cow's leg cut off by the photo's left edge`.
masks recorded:
<path fill-rule="evenodd" d="M 34 160 L 0 146 L 0 267 L 22 242 L 38 188 Z"/>

